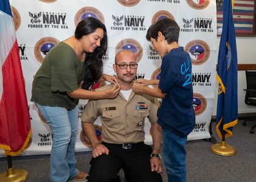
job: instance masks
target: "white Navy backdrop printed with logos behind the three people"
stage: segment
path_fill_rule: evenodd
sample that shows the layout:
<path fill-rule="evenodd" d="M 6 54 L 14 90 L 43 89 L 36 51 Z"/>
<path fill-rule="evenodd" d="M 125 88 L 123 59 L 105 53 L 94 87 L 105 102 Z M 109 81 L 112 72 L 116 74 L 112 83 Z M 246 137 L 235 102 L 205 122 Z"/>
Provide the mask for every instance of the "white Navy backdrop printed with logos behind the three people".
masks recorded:
<path fill-rule="evenodd" d="M 188 140 L 210 138 L 208 127 L 215 98 L 216 76 L 216 1 L 215 0 L 10 0 L 20 49 L 21 64 L 28 99 L 32 137 L 21 155 L 51 153 L 52 133 L 48 124 L 30 101 L 35 73 L 44 56 L 56 45 L 74 35 L 76 25 L 87 16 L 100 19 L 107 27 L 108 49 L 104 56 L 104 73 L 113 75 L 115 54 L 130 49 L 137 55 L 137 78 L 158 79 L 162 59 L 146 41 L 146 31 L 165 16 L 180 26 L 179 45 L 190 54 L 193 64 L 193 106 L 196 127 Z M 12 84 L 12 83 L 10 83 Z M 100 87 L 108 83 L 98 83 Z M 80 114 L 87 100 L 80 100 Z M 182 116 L 180 116 L 182 117 Z M 101 122 L 95 123 L 101 140 Z M 146 140 L 152 144 L 150 124 L 146 122 Z M 76 152 L 91 150 L 79 123 Z M 4 157 L 0 150 L 0 157 Z"/>

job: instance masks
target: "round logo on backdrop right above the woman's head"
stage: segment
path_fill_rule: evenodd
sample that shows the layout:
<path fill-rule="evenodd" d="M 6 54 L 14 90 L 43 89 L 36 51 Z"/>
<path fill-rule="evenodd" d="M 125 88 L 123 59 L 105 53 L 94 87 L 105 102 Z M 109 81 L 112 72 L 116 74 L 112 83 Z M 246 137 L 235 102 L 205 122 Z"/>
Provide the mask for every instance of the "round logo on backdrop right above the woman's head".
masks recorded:
<path fill-rule="evenodd" d="M 77 24 L 79 24 L 79 22 L 82 19 L 85 19 L 87 17 L 93 17 L 93 18 L 99 19 L 99 21 L 105 24 L 104 16 L 98 9 L 94 7 L 83 7 L 83 8 L 80 8 L 80 10 L 75 15 L 75 18 L 74 18 L 75 25 L 77 26 Z"/>

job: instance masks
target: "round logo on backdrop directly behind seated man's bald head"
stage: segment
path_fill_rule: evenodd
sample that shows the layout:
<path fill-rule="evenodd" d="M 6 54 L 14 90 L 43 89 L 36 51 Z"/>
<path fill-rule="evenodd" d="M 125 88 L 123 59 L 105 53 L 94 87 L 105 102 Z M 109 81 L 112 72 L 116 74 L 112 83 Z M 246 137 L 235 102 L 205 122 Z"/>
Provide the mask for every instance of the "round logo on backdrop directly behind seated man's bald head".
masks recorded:
<path fill-rule="evenodd" d="M 136 57 L 137 63 L 140 61 L 143 55 L 143 49 L 139 42 L 134 39 L 123 39 L 116 45 L 116 52 L 118 53 L 120 50 L 130 50 Z"/>

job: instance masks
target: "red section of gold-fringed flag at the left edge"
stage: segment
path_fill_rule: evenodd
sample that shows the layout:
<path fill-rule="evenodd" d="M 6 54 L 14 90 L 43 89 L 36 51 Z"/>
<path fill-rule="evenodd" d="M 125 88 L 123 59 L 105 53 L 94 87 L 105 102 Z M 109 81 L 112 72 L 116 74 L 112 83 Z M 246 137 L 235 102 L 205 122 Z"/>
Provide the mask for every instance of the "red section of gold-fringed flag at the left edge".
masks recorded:
<path fill-rule="evenodd" d="M 31 135 L 29 109 L 17 41 L 2 65 L 0 147 L 6 155 L 18 155 Z"/>

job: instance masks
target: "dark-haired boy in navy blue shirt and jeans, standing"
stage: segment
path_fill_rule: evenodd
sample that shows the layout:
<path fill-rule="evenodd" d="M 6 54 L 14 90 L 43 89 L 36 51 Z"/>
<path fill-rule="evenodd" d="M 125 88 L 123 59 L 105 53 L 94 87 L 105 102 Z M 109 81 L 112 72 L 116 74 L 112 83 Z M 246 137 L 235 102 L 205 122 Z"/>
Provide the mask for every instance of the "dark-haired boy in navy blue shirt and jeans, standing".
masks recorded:
<path fill-rule="evenodd" d="M 193 86 L 190 55 L 179 47 L 180 28 L 176 21 L 162 18 L 149 27 L 146 38 L 162 59 L 160 80 L 137 79 L 133 92 L 163 98 L 157 123 L 162 126 L 163 157 L 168 181 L 186 181 L 188 134 L 194 129 Z M 158 88 L 144 87 L 158 84 Z"/>

